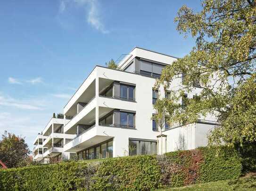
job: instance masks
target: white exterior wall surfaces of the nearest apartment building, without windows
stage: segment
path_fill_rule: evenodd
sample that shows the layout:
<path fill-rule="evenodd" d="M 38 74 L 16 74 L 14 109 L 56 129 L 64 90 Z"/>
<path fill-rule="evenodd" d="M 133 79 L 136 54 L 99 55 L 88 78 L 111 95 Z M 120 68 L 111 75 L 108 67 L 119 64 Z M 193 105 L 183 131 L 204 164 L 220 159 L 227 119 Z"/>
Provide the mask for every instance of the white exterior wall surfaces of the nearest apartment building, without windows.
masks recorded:
<path fill-rule="evenodd" d="M 150 52 L 147 50 L 143 50 L 140 48 L 135 48 L 132 50 L 132 57 L 129 59 L 132 60 L 135 56 L 139 56 L 142 58 L 146 58 L 153 61 L 163 62 L 165 64 L 171 64 L 174 60 L 173 57 L 166 56 L 159 53 Z M 128 62 L 125 64 L 128 64 Z M 124 64 L 124 65 L 125 65 Z M 125 66 L 122 66 L 124 68 Z M 96 90 L 98 91 L 99 78 L 105 78 L 114 81 L 121 81 L 131 84 L 136 84 L 135 88 L 135 100 L 136 102 L 128 102 L 124 100 L 110 99 L 110 98 L 102 98 L 99 97 L 96 93 L 95 96 L 95 105 L 96 108 L 96 117 L 98 117 L 97 112 L 99 112 L 99 107 L 109 107 L 109 108 L 118 108 L 125 110 L 132 110 L 136 112 L 135 115 L 135 126 L 136 130 L 129 130 L 123 128 L 113 128 L 113 127 L 99 127 L 96 123 L 96 134 L 94 135 L 95 139 L 97 136 L 107 136 L 109 138 L 113 137 L 113 154 L 114 157 L 124 156 L 125 151 L 128 151 L 129 138 L 138 138 L 138 139 L 151 139 L 157 140 L 157 135 L 159 132 L 152 130 L 152 114 L 155 113 L 152 105 L 152 88 L 156 82 L 156 79 L 146 76 L 140 76 L 133 73 L 118 71 L 114 69 L 107 69 L 103 67 L 96 67 L 93 69 L 92 73 L 88 78 L 83 82 L 78 91 L 74 94 L 72 99 L 67 103 L 64 108 L 64 114 L 68 112 L 68 110 L 74 105 L 77 99 L 84 93 L 86 88 L 96 79 Z M 173 83 L 170 85 L 170 89 L 175 90 L 179 89 L 182 85 L 182 78 L 174 79 Z M 192 98 L 195 93 L 199 93 L 201 90 L 199 88 L 195 88 L 191 93 L 188 94 L 189 98 Z M 165 96 L 165 92 L 163 87 L 159 88 L 160 97 Z M 91 106 L 94 108 L 94 106 Z M 82 115 L 82 113 L 81 113 Z M 86 114 L 84 114 L 86 115 Z M 76 117 L 77 118 L 77 117 Z M 79 119 L 79 121 L 83 118 Z M 212 119 L 212 117 L 210 117 Z M 74 118 L 75 120 L 75 118 Z M 97 119 L 98 120 L 98 119 Z M 75 121 L 79 123 L 79 121 Z M 72 122 L 70 122 L 72 124 Z M 197 130 L 198 128 L 198 130 Z M 66 130 L 66 128 L 65 128 Z M 95 130 L 90 130 L 95 131 Z M 85 134 L 90 132 L 86 132 Z M 198 145 L 206 145 L 206 132 L 207 128 L 205 126 L 198 125 L 195 123 L 187 125 L 187 127 L 179 127 L 172 130 L 165 131 L 163 134 L 167 135 L 167 152 L 175 151 L 178 149 L 193 149 Z M 82 135 L 82 137 L 87 138 L 88 136 Z M 92 138 L 90 138 L 92 140 Z M 80 140 L 80 138 L 79 138 Z M 99 139 L 100 140 L 100 139 Z M 85 139 L 81 139 L 81 142 L 86 141 Z M 74 146 L 73 143 L 68 143 L 67 146 Z M 92 145 L 90 145 L 92 146 Z M 87 148 L 86 145 L 85 148 Z M 66 151 L 66 149 L 64 150 Z M 79 148 L 79 151 L 85 149 Z"/>

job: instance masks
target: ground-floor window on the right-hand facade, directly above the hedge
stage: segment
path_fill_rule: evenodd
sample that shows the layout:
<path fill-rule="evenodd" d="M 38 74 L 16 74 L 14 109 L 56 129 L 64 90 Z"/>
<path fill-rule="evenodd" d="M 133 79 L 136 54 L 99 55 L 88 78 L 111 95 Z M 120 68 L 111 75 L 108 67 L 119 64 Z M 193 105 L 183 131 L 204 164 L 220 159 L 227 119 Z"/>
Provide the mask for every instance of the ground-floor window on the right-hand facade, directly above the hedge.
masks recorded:
<path fill-rule="evenodd" d="M 157 141 L 129 139 L 129 155 L 157 154 Z"/>

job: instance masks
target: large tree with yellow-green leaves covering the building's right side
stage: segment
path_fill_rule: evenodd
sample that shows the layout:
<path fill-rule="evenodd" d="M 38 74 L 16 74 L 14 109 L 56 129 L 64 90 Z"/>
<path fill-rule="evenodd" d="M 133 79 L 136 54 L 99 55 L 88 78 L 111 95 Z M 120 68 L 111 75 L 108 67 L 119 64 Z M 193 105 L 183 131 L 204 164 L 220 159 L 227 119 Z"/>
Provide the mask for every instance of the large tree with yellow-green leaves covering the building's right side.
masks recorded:
<path fill-rule="evenodd" d="M 170 122 L 190 123 L 215 115 L 220 128 L 209 136 L 210 145 L 246 145 L 256 141 L 256 2 L 204 0 L 194 13 L 183 6 L 174 21 L 177 30 L 196 38 L 185 57 L 165 67 L 156 86 L 167 89 L 175 78 L 182 88 L 170 93 L 165 106 Z M 184 99 L 200 84 L 193 99 Z"/>

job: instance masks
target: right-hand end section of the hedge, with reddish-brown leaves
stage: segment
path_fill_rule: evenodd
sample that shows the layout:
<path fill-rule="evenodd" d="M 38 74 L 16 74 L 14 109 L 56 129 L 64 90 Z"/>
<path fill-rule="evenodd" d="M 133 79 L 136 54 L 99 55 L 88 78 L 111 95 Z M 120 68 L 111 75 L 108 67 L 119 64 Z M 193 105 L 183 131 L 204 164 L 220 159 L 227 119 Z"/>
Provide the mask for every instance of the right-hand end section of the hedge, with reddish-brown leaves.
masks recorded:
<path fill-rule="evenodd" d="M 234 179 L 241 175 L 238 153 L 226 147 L 219 153 L 216 153 L 215 148 L 201 147 L 166 153 L 164 156 L 164 160 L 159 159 L 164 169 L 162 184 L 171 187 Z"/>

